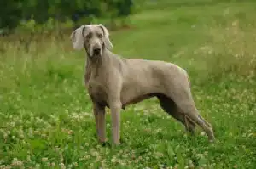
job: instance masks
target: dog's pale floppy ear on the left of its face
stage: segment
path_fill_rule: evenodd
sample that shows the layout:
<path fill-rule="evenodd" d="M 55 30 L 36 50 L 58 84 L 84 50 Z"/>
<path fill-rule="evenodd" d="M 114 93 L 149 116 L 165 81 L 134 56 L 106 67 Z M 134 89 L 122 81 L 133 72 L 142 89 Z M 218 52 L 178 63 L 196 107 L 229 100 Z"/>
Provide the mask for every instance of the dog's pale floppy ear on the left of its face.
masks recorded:
<path fill-rule="evenodd" d="M 73 48 L 76 50 L 81 50 L 84 47 L 84 29 L 85 25 L 81 25 L 79 28 L 73 31 L 70 36 L 73 43 Z"/>

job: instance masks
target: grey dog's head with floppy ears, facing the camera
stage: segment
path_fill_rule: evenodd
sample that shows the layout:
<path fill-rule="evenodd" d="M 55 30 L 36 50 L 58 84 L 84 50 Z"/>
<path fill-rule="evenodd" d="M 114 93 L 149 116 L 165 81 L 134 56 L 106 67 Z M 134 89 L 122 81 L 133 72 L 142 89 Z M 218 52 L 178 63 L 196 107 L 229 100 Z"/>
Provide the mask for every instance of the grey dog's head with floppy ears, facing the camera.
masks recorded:
<path fill-rule="evenodd" d="M 111 50 L 112 43 L 109 40 L 107 28 L 102 25 L 81 25 L 72 32 L 73 48 L 81 50 L 83 47 L 90 57 L 101 56 L 105 48 Z"/>

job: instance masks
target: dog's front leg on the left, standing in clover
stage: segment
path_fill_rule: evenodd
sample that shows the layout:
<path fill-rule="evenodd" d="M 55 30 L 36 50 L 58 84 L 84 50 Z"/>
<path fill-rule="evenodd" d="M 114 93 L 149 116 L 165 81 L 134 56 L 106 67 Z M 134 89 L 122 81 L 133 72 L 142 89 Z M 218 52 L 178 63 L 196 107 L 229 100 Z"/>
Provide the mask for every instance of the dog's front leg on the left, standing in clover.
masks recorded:
<path fill-rule="evenodd" d="M 96 121 L 97 137 L 101 143 L 104 143 L 107 141 L 105 107 L 100 104 L 93 103 L 93 111 L 94 111 L 94 116 Z"/>

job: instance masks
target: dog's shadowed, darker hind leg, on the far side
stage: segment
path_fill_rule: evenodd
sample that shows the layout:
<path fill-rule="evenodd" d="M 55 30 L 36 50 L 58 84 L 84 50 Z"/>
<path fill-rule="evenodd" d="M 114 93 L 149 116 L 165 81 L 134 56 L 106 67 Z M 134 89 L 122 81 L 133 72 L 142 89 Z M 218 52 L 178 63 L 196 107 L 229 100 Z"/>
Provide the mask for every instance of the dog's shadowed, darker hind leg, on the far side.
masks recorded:
<path fill-rule="evenodd" d="M 160 106 L 169 115 L 172 115 L 174 119 L 180 121 L 186 128 L 186 130 L 192 134 L 195 132 L 195 123 L 185 116 L 180 110 L 177 109 L 177 105 L 165 95 L 158 95 L 157 98 L 160 101 Z"/>

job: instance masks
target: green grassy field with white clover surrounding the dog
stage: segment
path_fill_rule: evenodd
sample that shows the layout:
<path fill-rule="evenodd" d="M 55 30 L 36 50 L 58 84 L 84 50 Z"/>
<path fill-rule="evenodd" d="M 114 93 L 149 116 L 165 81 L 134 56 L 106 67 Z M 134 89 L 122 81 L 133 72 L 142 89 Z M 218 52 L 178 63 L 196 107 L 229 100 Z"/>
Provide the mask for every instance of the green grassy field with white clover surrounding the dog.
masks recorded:
<path fill-rule="evenodd" d="M 185 1 L 184 1 L 185 2 Z M 84 89 L 84 51 L 69 39 L 0 46 L 0 168 L 256 167 L 256 3 L 161 5 L 111 31 L 113 52 L 160 59 L 189 72 L 195 103 L 212 123 L 216 143 L 195 136 L 156 99 L 121 112 L 122 144 L 96 141 Z M 107 132 L 111 141 L 108 110 Z"/>

